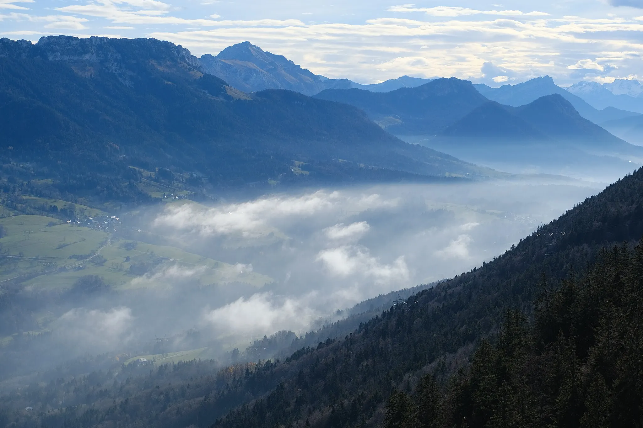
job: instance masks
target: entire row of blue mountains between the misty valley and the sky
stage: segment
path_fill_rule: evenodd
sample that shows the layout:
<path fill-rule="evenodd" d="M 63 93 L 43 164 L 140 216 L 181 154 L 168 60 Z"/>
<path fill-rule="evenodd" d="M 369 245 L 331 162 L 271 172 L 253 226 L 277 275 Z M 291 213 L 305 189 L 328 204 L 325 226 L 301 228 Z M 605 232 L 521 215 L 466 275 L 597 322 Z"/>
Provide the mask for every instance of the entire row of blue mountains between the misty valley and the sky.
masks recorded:
<path fill-rule="evenodd" d="M 602 165 L 609 175 L 604 179 L 612 179 L 630 171 L 630 161 L 643 158 L 637 147 L 598 126 L 589 133 L 583 131 L 588 123 L 576 126 L 582 117 L 573 107 L 565 106 L 556 117 L 560 129 L 573 130 L 566 134 L 552 133 L 552 121 L 535 123 L 529 117 L 556 116 L 556 103 L 511 109 L 556 88 L 574 99 L 550 78 L 495 90 L 492 98 L 510 104 L 501 111 L 479 85 L 456 78 L 388 92 L 325 89 L 313 98 L 284 89 L 242 92 L 207 73 L 203 57 L 154 39 L 61 36 L 35 45 L 3 39 L 0 55 L 0 121 L 10 130 L 0 155 L 5 164 L 28 162 L 28 176 L 51 178 L 58 191 L 73 194 L 90 194 L 98 186 L 123 201 L 142 200 L 145 195 L 136 186 L 116 184 L 118 177 L 136 182 L 136 168 L 165 168 L 198 177 L 194 182 L 200 187 L 221 190 L 500 176 L 489 167 L 596 178 L 588 172 Z M 248 76 L 262 70 L 260 76 L 292 83 L 287 76 L 296 75 L 299 90 L 306 82 L 328 81 L 249 43 L 219 56 L 209 60 L 235 69 L 244 60 L 254 64 L 264 58 L 262 67 L 269 73 L 257 65 L 248 68 Z M 395 84 L 405 82 L 421 83 L 401 79 Z M 475 118 L 485 110 L 491 116 Z M 484 128 L 491 124 L 493 138 Z M 514 132 L 518 128 L 521 133 Z M 473 150 L 469 146 L 476 138 Z M 513 141 L 511 150 L 507 139 Z M 557 144 L 560 156 L 540 150 L 542 144 Z"/>

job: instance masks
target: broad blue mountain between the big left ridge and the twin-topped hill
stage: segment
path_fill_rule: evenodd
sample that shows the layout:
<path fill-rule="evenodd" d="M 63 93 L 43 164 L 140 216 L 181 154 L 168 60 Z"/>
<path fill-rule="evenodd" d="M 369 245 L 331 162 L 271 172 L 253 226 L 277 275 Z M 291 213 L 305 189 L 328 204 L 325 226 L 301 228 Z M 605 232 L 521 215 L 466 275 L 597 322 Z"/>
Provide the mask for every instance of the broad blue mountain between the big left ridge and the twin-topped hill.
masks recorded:
<path fill-rule="evenodd" d="M 415 88 L 377 93 L 362 89 L 327 89 L 314 98 L 361 108 L 395 135 L 435 135 L 487 102 L 471 82 L 442 78 Z"/>

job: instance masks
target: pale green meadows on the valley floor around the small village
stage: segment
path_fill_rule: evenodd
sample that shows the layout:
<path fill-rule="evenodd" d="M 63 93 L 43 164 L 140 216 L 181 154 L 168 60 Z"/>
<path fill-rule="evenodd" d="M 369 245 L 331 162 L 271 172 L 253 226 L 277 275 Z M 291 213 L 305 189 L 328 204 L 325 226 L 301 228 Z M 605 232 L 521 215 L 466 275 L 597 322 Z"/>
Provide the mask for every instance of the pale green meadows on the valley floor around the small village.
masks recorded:
<path fill-rule="evenodd" d="M 188 271 L 190 280 L 201 285 L 245 282 L 260 287 L 271 280 L 179 248 L 114 240 L 102 230 L 46 216 L 1 218 L 0 225 L 6 231 L 0 239 L 0 281 L 19 278 L 26 286 L 55 289 L 71 287 L 84 275 L 98 275 L 116 289 L 154 287 L 156 273 L 170 268 Z M 150 280 L 134 281 L 144 272 Z"/>

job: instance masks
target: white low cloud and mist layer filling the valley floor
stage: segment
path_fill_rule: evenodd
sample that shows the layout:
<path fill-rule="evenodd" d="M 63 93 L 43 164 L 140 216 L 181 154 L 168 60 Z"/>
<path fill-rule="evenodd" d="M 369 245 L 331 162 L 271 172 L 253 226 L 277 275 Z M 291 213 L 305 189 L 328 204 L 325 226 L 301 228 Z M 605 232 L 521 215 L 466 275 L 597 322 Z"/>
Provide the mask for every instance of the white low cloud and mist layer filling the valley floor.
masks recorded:
<path fill-rule="evenodd" d="M 193 311 L 218 338 L 257 338 L 303 332 L 366 298 L 479 266 L 592 192 L 506 183 L 321 190 L 213 207 L 170 205 L 150 227 L 176 234 L 194 252 L 236 261 L 237 270 L 275 278 Z M 231 252 L 231 242 L 246 245 Z M 163 280 L 180 273 L 189 272 L 163 273 Z"/>

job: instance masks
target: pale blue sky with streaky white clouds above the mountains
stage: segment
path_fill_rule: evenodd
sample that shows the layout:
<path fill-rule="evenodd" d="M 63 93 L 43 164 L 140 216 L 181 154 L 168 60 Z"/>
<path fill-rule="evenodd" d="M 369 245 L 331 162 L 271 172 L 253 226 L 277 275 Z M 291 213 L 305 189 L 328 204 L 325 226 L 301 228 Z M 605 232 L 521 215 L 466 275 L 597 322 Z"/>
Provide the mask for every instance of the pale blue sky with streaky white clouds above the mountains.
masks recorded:
<path fill-rule="evenodd" d="M 58 34 L 155 37 L 197 56 L 249 40 L 360 83 L 643 77 L 643 0 L 0 0 L 3 37 Z"/>

